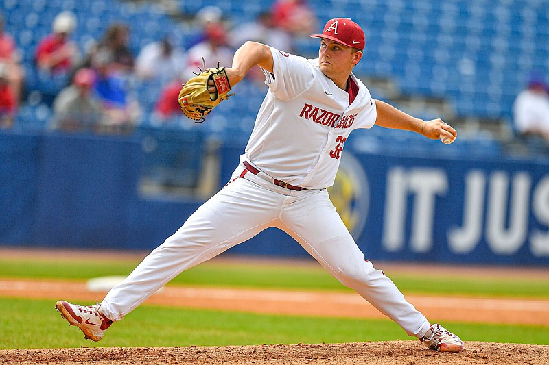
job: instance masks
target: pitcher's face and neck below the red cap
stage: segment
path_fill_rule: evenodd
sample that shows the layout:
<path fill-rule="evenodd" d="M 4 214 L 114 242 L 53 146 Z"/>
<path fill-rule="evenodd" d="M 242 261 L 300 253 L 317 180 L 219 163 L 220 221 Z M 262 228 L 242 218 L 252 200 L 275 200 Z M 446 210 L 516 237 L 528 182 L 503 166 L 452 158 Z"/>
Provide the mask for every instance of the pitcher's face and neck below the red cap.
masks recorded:
<path fill-rule="evenodd" d="M 318 50 L 318 64 L 320 71 L 340 86 L 340 81 L 347 82 L 347 78 L 355 64 L 362 58 L 362 52 L 342 45 L 329 39 L 320 40 Z"/>

